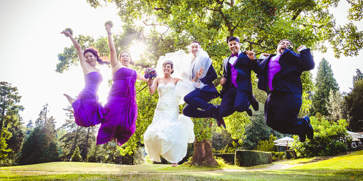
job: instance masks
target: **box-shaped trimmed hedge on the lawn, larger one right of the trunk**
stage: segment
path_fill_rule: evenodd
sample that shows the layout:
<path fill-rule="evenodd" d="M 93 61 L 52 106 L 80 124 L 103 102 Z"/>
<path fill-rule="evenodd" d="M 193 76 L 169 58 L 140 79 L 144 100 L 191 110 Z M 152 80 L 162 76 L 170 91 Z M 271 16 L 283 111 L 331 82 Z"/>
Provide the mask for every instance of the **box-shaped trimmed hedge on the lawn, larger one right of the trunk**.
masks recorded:
<path fill-rule="evenodd" d="M 236 150 L 234 164 L 238 167 L 251 167 L 272 163 L 272 153 L 252 150 Z"/>

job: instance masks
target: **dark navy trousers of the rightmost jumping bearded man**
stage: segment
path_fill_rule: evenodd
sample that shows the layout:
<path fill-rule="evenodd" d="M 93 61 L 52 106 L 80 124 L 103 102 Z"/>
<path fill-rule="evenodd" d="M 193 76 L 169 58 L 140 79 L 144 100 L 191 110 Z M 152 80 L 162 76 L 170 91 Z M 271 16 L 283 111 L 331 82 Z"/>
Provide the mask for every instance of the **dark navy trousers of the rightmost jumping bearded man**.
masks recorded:
<path fill-rule="evenodd" d="M 304 135 L 309 123 L 297 117 L 301 105 L 299 94 L 273 90 L 265 102 L 266 125 L 282 134 Z"/>

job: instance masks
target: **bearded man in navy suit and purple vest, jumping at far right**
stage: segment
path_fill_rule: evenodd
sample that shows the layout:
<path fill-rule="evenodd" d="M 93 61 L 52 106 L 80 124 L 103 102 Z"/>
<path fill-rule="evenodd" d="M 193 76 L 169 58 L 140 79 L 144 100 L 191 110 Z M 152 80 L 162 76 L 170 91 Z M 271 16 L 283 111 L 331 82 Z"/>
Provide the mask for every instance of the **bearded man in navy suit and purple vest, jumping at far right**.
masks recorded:
<path fill-rule="evenodd" d="M 301 73 L 312 70 L 315 66 L 310 49 L 301 45 L 294 52 L 288 47 L 293 44 L 282 39 L 277 45 L 277 55 L 262 54 L 260 62 L 262 73 L 257 75 L 258 88 L 265 90 L 268 97 L 265 102 L 266 125 L 282 134 L 297 134 L 299 141 L 306 137 L 314 138 L 314 130 L 309 117 L 298 118 L 302 105 Z"/>

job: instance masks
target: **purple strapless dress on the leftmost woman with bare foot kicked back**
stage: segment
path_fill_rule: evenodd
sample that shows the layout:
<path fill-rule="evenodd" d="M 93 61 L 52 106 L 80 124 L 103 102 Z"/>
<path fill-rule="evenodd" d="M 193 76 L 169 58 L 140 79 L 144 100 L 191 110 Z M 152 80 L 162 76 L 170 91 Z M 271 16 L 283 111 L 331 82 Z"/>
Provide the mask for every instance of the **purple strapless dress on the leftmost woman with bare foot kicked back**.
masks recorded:
<path fill-rule="evenodd" d="M 98 125 L 106 114 L 106 110 L 98 102 L 97 90 L 102 82 L 102 75 L 90 72 L 85 75 L 85 88 L 73 102 L 74 119 L 78 126 L 89 127 Z"/>

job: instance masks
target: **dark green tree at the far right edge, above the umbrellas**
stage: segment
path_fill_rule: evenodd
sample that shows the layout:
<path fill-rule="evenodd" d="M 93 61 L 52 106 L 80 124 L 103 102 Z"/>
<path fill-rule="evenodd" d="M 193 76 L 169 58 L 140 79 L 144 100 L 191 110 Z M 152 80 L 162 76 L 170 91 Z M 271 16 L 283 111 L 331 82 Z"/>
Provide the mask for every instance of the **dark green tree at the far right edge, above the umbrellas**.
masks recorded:
<path fill-rule="evenodd" d="M 348 110 L 348 130 L 354 132 L 363 131 L 363 79 L 353 83 L 351 92 L 344 96 Z"/>

